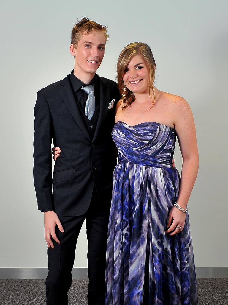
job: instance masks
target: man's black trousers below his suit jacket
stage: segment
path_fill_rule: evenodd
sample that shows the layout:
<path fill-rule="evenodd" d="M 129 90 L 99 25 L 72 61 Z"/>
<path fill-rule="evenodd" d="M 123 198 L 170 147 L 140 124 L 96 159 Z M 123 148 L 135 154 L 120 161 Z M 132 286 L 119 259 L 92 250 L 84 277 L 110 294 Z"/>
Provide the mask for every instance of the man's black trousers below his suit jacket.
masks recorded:
<path fill-rule="evenodd" d="M 101 206 L 93 192 L 87 212 L 81 216 L 59 216 L 64 228 L 55 231 L 60 244 L 47 248 L 48 276 L 46 279 L 47 305 L 67 305 L 67 292 L 71 287 L 71 271 L 74 265 L 75 248 L 81 226 L 86 220 L 88 239 L 88 305 L 105 304 L 105 260 L 110 203 Z"/>

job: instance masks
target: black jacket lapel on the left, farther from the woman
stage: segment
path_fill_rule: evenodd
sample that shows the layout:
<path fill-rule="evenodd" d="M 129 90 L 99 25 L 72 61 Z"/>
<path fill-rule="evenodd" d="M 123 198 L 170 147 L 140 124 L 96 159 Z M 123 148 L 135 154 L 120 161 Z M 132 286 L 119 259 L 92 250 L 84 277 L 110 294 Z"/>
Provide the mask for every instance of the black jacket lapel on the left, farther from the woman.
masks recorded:
<path fill-rule="evenodd" d="M 83 122 L 83 119 L 81 117 L 80 109 L 78 108 L 78 104 L 75 101 L 74 94 L 71 89 L 71 85 L 68 80 L 68 76 L 64 78 L 62 83 L 60 83 L 60 86 L 58 86 L 59 93 L 66 104 L 67 108 L 69 109 L 72 117 L 78 124 L 81 131 L 86 135 L 86 137 L 91 140 L 91 137 L 89 135 L 89 132 Z"/>

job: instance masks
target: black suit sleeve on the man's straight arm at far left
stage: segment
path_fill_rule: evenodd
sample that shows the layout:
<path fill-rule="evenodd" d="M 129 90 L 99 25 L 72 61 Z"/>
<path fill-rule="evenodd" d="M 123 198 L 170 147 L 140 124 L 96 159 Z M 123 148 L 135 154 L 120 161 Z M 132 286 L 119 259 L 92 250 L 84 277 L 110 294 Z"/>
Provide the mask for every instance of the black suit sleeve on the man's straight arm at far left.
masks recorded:
<path fill-rule="evenodd" d="M 52 195 L 51 143 L 53 124 L 48 103 L 43 94 L 37 92 L 34 108 L 33 178 L 38 209 L 54 210 Z"/>

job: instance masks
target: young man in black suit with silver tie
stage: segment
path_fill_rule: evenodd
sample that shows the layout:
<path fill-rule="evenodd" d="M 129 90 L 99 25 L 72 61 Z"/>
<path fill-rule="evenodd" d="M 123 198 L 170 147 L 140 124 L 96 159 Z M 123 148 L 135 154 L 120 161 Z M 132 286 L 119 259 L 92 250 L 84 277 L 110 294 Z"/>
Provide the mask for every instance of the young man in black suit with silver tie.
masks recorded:
<path fill-rule="evenodd" d="M 106 240 L 116 165 L 111 130 L 120 99 L 117 84 L 95 74 L 107 40 L 106 27 L 82 18 L 71 33 L 74 70 L 37 93 L 33 172 L 48 246 L 48 305 L 68 304 L 75 247 L 85 219 L 88 304 L 105 304 Z M 62 151 L 53 177 L 52 140 Z"/>

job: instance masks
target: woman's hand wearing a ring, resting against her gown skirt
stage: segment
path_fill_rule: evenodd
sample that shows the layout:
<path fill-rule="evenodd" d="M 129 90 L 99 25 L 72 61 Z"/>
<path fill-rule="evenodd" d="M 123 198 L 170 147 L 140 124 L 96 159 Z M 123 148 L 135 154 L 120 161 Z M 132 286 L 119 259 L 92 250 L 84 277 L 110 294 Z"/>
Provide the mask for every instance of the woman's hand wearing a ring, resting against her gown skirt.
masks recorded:
<path fill-rule="evenodd" d="M 174 235 L 181 232 L 185 225 L 185 217 L 186 217 L 185 212 L 182 212 L 181 210 L 178 210 L 178 208 L 173 206 L 169 212 L 168 224 L 167 224 L 168 230 L 166 230 L 165 233 L 171 232 L 169 235 Z M 181 229 L 178 227 L 181 227 Z"/>

